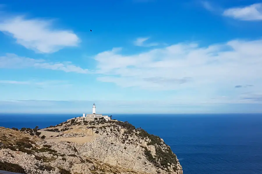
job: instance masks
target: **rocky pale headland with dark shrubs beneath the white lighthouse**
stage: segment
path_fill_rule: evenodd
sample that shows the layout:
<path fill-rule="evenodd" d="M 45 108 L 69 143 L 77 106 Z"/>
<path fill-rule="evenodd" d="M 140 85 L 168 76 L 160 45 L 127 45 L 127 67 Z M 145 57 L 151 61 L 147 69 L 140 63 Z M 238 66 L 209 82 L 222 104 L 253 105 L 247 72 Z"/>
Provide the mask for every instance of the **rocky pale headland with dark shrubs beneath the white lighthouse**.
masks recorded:
<path fill-rule="evenodd" d="M 0 127 L 0 170 L 31 174 L 183 174 L 163 139 L 128 122 L 78 117 L 45 129 Z"/>

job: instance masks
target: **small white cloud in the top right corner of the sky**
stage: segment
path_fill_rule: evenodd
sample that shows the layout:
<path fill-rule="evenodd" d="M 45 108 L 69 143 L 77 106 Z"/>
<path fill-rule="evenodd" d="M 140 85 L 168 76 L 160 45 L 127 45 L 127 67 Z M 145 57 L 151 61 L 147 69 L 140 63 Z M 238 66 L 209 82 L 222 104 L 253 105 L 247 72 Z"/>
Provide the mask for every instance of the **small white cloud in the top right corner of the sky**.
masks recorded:
<path fill-rule="evenodd" d="M 261 21 L 262 3 L 255 3 L 245 7 L 229 8 L 223 12 L 223 15 L 242 21 Z"/>

